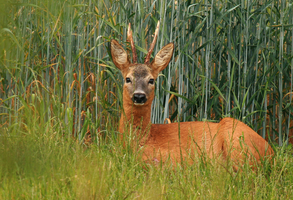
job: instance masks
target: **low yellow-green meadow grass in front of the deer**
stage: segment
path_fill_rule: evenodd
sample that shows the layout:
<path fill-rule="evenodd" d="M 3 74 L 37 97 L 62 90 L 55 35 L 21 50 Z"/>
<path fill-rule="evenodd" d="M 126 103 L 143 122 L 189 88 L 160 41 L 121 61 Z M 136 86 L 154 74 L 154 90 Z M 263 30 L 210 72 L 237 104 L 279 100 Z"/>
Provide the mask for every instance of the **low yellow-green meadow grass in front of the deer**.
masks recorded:
<path fill-rule="evenodd" d="M 273 165 L 234 172 L 198 157 L 194 164 L 142 162 L 115 138 L 82 146 L 44 130 L 40 137 L 1 137 L 1 199 L 290 199 L 291 152 Z M 203 162 L 204 161 L 204 162 Z"/>

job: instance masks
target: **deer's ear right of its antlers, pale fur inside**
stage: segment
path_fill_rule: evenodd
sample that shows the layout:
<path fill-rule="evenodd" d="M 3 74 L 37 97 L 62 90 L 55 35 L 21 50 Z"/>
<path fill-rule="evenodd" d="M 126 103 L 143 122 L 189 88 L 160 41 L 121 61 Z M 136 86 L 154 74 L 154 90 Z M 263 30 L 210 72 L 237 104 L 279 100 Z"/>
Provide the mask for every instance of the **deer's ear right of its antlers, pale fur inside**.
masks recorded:
<path fill-rule="evenodd" d="M 163 70 L 165 69 L 174 52 L 174 43 L 169 43 L 166 46 L 164 46 L 155 56 L 154 60 L 151 62 L 149 67 L 153 69 L 155 77 Z"/>

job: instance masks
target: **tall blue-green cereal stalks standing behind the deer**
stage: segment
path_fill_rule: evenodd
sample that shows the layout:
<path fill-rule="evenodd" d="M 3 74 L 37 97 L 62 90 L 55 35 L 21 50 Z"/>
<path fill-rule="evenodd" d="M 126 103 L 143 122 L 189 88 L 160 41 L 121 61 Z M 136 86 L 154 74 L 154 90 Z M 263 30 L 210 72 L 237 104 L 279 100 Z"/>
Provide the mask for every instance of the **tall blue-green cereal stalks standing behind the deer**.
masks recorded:
<path fill-rule="evenodd" d="M 3 1 L 2 135 L 59 134 L 103 143 L 117 135 L 123 79 L 115 38 L 142 62 L 176 49 L 156 82 L 152 121 L 237 118 L 278 145 L 292 143 L 292 1 Z M 285 143 L 284 143 L 285 142 Z"/>

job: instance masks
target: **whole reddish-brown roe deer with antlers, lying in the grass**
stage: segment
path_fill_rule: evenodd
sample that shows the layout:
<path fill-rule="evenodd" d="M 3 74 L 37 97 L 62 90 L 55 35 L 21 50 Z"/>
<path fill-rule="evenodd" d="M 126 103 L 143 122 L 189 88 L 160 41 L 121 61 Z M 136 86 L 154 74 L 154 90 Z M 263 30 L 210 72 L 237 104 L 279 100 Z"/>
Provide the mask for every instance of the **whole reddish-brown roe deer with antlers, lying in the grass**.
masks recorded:
<path fill-rule="evenodd" d="M 132 62 L 127 53 L 115 40 L 111 39 L 110 52 L 113 63 L 121 70 L 125 80 L 123 86 L 123 111 L 119 132 L 135 134 L 139 147 L 143 146 L 143 159 L 173 162 L 183 160 L 191 154 L 202 154 L 220 160 L 231 160 L 238 169 L 245 159 L 250 164 L 271 156 L 270 145 L 246 124 L 234 118 L 223 118 L 219 123 L 207 121 L 180 122 L 170 124 L 151 123 L 151 104 L 154 99 L 154 82 L 173 56 L 174 43 L 164 46 L 149 63 L 158 34 L 159 22 L 144 64 L 137 63 L 137 54 L 130 24 L 127 35 L 132 47 Z M 129 125 L 129 126 L 128 126 Z M 125 137 L 129 136 L 125 135 Z"/>

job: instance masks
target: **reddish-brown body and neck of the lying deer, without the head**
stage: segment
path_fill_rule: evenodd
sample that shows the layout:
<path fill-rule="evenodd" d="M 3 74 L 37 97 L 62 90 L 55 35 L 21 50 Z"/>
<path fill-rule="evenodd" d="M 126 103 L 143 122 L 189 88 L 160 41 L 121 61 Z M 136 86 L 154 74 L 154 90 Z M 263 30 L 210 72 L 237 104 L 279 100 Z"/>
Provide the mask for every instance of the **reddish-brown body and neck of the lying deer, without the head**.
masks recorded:
<path fill-rule="evenodd" d="M 172 162 L 180 162 L 181 156 L 184 159 L 203 151 L 209 158 L 221 157 L 226 160 L 229 156 L 235 163 L 234 169 L 237 169 L 236 165 L 241 164 L 247 155 L 261 160 L 273 152 L 260 135 L 234 118 L 223 118 L 219 123 L 193 121 L 151 124 L 150 109 L 151 106 L 129 107 L 129 113 L 122 113 L 119 126 L 120 133 L 136 134 L 139 147 L 144 146 L 144 160 L 166 161 L 170 156 Z M 130 127 L 125 130 L 125 124 L 129 123 L 131 130 Z"/>

